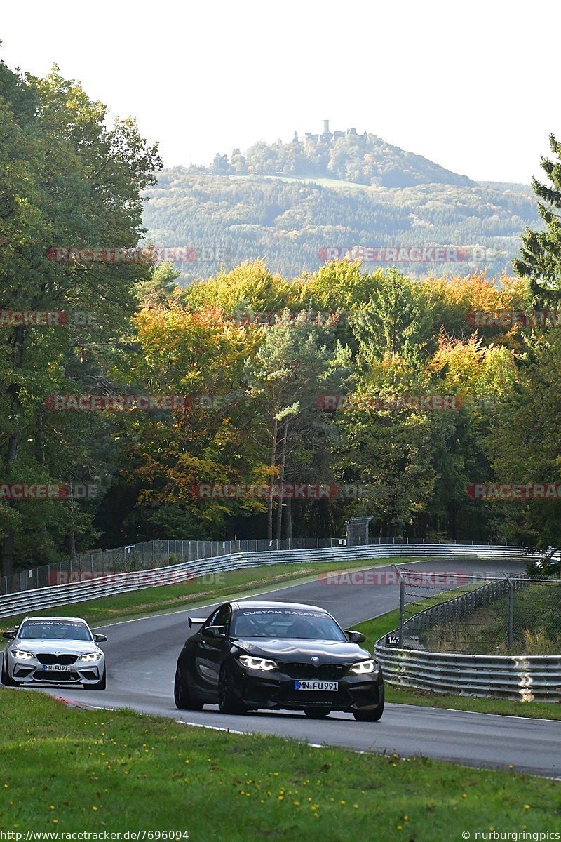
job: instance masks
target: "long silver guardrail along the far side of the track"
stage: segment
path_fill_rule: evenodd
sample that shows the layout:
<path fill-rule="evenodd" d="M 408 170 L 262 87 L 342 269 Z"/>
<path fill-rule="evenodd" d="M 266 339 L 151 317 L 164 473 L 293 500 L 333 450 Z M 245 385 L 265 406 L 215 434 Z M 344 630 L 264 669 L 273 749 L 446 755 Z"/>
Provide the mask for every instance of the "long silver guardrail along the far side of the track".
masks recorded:
<path fill-rule="evenodd" d="M 194 578 L 205 573 L 220 573 L 262 564 L 294 562 L 351 562 L 387 557 L 442 557 L 447 559 L 478 559 L 481 561 L 527 561 L 520 547 L 489 545 L 395 544 L 375 546 L 342 546 L 320 550 L 279 550 L 268 552 L 235 552 L 228 555 L 182 562 L 165 568 L 132 571 L 98 576 L 87 582 L 51 585 L 49 588 L 19 591 L 0 596 L 0 618 L 45 610 L 75 602 L 95 600 L 100 596 L 123 594 L 127 591 L 169 584 L 173 577 Z M 162 581 L 163 579 L 163 581 Z M 177 579 L 175 579 L 177 581 Z"/>

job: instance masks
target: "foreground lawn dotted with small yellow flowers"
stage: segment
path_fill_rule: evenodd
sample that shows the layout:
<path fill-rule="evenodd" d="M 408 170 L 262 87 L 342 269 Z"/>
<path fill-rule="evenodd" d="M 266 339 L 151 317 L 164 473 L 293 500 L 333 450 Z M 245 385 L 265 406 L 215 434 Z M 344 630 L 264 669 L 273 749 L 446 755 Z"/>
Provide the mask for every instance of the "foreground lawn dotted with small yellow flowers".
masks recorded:
<path fill-rule="evenodd" d="M 558 783 L 513 770 L 313 749 L 132 711 L 67 709 L 19 690 L 0 691 L 0 721 L 12 722 L 0 736 L 0 829 L 23 838 L 173 830 L 196 842 L 354 842 L 373 839 L 375 827 L 384 842 L 449 842 L 466 829 L 472 839 L 476 830 L 539 832 L 559 818 Z"/>

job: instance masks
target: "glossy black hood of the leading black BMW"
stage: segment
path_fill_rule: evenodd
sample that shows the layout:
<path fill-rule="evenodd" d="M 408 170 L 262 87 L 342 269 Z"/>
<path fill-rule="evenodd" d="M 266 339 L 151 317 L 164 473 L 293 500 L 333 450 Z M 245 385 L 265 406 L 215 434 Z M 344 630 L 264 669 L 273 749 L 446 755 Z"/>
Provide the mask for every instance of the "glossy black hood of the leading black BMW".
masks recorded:
<path fill-rule="evenodd" d="M 281 658 L 283 661 L 299 662 L 315 656 L 322 663 L 338 661 L 352 663 L 363 658 L 372 658 L 366 649 L 357 643 L 338 640 L 278 640 L 274 637 L 235 637 L 233 642 L 249 655 L 257 658 Z"/>

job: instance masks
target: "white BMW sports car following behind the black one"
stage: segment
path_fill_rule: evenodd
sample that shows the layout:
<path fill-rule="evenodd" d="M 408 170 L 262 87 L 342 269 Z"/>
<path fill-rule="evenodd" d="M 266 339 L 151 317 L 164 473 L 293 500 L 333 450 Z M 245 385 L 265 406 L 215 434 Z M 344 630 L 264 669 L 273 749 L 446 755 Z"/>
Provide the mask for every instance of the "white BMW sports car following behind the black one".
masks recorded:
<path fill-rule="evenodd" d="M 2 683 L 7 687 L 82 685 L 105 690 L 107 640 L 78 617 L 25 617 L 16 632 L 3 632 Z"/>

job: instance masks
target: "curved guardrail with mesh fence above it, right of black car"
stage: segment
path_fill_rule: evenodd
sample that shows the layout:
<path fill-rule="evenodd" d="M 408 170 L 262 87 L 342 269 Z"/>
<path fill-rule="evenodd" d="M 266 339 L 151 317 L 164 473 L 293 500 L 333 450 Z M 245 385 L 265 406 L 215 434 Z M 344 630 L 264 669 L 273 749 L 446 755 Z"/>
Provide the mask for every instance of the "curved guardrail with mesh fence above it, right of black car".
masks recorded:
<path fill-rule="evenodd" d="M 400 626 L 374 647 L 389 684 L 561 701 L 561 581 L 505 576 L 481 584 L 447 573 L 437 582 L 396 570 Z M 463 593 L 443 599 L 453 588 Z"/>

